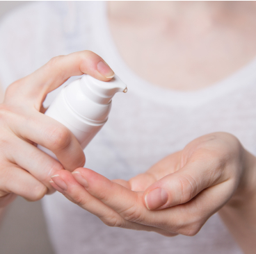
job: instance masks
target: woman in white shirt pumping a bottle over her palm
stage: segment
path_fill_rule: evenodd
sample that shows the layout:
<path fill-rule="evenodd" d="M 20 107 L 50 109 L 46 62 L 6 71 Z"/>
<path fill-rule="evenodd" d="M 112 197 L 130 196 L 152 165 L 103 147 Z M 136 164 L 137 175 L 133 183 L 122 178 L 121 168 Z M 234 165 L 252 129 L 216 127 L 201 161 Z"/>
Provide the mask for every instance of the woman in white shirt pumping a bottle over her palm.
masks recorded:
<path fill-rule="evenodd" d="M 86 149 L 86 167 L 97 174 L 77 169 L 84 162 L 77 141 L 38 111 L 44 112 L 46 94 L 69 76 L 86 73 L 108 81 L 113 73 L 99 64 L 102 58 L 88 51 L 54 58 L 13 83 L 1 106 L 1 133 L 12 130 L 13 137 L 6 146 L 7 134 L 1 135 L 2 162 L 19 177 L 6 180 L 7 166 L 1 170 L 2 200 L 12 198 L 8 190 L 36 200 L 52 192 L 51 183 L 107 225 L 141 230 L 107 228 L 56 193 L 44 198 L 56 253 L 241 253 L 218 216 L 211 217 L 222 207 L 238 244 L 253 253 L 255 157 L 243 146 L 255 154 L 255 3 L 107 4 L 37 3 L 16 13 L 13 24 L 21 19 L 22 29 L 1 42 L 4 85 L 51 56 L 89 49 L 108 62 L 129 93 L 115 96 L 108 123 Z M 12 22 L 3 24 L 1 37 Z M 216 131 L 232 133 L 243 146 Z M 54 151 L 61 163 L 34 142 Z M 101 175 L 132 179 L 111 183 Z M 200 232 L 167 238 L 143 230 Z"/>

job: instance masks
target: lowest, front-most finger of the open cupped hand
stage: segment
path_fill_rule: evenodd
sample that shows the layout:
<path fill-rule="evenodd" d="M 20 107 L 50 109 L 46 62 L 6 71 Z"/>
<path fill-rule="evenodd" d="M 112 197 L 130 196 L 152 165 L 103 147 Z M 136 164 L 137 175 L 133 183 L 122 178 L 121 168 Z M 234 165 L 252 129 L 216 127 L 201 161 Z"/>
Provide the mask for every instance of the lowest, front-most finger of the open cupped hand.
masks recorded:
<path fill-rule="evenodd" d="M 74 172 L 73 172 L 74 173 Z M 99 201 L 99 199 L 90 195 L 86 189 L 74 179 L 74 174 L 68 171 L 58 171 L 58 175 L 51 177 L 51 185 L 66 196 L 70 201 L 76 203 L 81 208 L 88 210 L 101 219 L 107 226 L 120 228 L 129 228 L 134 230 L 154 231 L 161 235 L 175 236 L 166 230 L 144 226 L 138 223 L 123 219 L 120 214 L 109 208 L 107 205 Z"/>

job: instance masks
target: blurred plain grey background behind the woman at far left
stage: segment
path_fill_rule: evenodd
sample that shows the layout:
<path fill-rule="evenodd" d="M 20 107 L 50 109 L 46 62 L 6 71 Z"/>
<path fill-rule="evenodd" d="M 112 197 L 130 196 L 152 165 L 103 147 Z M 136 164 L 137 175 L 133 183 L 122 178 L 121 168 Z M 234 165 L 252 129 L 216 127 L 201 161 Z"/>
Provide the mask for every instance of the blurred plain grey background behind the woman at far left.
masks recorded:
<path fill-rule="evenodd" d="M 0 1 L 0 22 L 12 10 L 28 3 L 29 1 Z M 1 254 L 54 254 L 40 201 L 31 203 L 17 197 L 0 223 Z"/>

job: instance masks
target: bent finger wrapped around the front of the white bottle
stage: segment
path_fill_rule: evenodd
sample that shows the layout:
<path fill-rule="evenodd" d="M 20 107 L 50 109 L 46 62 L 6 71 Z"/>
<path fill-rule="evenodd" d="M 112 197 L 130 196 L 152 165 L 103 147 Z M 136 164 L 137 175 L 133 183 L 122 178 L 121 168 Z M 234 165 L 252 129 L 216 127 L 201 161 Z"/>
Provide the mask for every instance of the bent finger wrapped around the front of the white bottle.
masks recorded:
<path fill-rule="evenodd" d="M 29 110 L 22 115 L 10 115 L 7 121 L 20 138 L 31 140 L 53 151 L 65 169 L 73 171 L 85 164 L 85 155 L 76 137 L 63 124 L 51 117 L 36 110 Z M 14 121 L 19 125 L 14 124 Z M 53 163 L 50 161 L 48 160 L 49 163 Z"/>

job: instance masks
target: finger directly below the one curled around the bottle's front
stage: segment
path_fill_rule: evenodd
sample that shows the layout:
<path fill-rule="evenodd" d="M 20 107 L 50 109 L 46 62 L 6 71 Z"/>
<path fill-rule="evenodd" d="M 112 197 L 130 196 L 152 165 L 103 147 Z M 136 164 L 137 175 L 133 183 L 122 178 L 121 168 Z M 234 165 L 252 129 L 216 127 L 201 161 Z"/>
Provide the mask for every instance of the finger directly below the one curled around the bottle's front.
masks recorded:
<path fill-rule="evenodd" d="M 15 144 L 15 146 L 11 146 L 11 150 L 6 146 L 7 149 L 2 151 L 6 158 L 13 164 L 29 171 L 52 191 L 53 188 L 49 184 L 50 176 L 63 169 L 62 164 L 15 135 L 9 135 L 8 139 L 10 144 Z"/>

